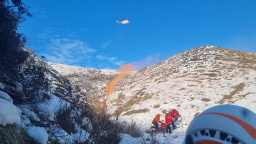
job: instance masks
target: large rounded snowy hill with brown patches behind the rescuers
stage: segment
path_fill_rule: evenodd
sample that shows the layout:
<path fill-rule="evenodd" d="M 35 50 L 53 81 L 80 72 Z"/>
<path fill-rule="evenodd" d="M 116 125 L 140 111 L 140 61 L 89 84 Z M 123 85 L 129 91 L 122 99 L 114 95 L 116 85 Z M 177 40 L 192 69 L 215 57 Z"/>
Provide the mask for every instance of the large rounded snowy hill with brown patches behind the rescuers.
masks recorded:
<path fill-rule="evenodd" d="M 256 54 L 197 47 L 126 76 L 110 94 L 108 112 L 146 129 L 157 113 L 164 119 L 176 108 L 183 121 L 168 137 L 181 143 L 191 119 L 206 108 L 228 103 L 256 112 L 255 80 Z"/>

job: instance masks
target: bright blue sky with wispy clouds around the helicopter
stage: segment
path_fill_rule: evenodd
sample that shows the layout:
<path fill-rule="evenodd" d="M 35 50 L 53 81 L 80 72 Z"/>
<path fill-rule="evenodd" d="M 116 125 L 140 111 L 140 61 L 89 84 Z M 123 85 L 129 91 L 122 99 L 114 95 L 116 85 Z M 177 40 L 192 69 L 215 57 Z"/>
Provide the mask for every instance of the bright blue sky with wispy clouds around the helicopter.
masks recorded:
<path fill-rule="evenodd" d="M 256 53 L 255 0 L 23 2 L 35 15 L 19 30 L 52 62 L 118 69 L 202 45 Z"/>

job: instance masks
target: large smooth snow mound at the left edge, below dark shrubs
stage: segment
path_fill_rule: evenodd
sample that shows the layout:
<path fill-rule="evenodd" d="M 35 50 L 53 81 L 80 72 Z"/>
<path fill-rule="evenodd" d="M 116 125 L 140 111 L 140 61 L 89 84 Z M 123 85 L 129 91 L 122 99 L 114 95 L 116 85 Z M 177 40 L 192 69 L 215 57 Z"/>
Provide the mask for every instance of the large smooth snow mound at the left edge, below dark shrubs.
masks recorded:
<path fill-rule="evenodd" d="M 0 125 L 20 124 L 20 111 L 11 102 L 0 99 Z"/>

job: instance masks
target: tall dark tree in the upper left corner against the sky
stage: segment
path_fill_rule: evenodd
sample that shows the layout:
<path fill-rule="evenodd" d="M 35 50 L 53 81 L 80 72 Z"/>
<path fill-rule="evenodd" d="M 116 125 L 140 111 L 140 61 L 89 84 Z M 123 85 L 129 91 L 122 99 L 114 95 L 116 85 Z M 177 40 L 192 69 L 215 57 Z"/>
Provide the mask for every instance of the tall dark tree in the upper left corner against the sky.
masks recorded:
<path fill-rule="evenodd" d="M 28 53 L 23 50 L 26 37 L 17 32 L 25 15 L 31 17 L 28 7 L 21 0 L 0 1 L 0 69 L 13 78 L 17 66 L 28 57 Z"/>

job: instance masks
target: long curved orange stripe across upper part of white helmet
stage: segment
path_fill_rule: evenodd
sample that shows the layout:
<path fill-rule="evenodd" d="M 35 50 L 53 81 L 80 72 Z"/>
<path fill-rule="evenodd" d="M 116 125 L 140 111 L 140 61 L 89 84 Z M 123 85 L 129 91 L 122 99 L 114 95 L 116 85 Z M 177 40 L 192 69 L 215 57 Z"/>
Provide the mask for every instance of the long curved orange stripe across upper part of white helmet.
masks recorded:
<path fill-rule="evenodd" d="M 229 119 L 233 120 L 234 122 L 236 122 L 237 124 L 241 125 L 244 128 L 244 130 L 251 135 L 251 137 L 253 139 L 256 139 L 256 129 L 252 125 L 244 122 L 243 120 L 241 120 L 235 116 L 231 116 L 231 115 L 228 115 L 225 113 L 218 113 L 218 112 L 205 113 L 205 114 L 201 114 L 199 116 L 202 116 L 202 115 L 220 115 L 220 116 L 229 118 Z"/>

